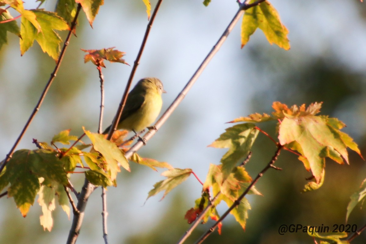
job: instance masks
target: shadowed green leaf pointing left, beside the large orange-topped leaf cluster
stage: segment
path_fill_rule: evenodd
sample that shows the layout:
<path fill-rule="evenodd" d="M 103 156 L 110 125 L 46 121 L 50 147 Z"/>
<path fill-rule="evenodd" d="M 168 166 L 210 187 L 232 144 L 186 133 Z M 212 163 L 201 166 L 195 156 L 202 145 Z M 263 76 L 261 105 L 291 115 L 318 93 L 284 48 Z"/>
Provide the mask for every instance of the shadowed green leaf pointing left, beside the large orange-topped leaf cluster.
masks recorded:
<path fill-rule="evenodd" d="M 258 130 L 251 123 L 238 124 L 225 129 L 210 147 L 228 148 L 229 150 L 221 158 L 223 180 L 232 172 L 234 167 L 249 154 L 251 147 L 258 135 Z"/>

